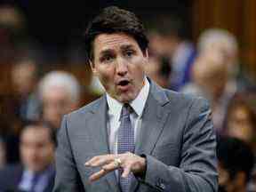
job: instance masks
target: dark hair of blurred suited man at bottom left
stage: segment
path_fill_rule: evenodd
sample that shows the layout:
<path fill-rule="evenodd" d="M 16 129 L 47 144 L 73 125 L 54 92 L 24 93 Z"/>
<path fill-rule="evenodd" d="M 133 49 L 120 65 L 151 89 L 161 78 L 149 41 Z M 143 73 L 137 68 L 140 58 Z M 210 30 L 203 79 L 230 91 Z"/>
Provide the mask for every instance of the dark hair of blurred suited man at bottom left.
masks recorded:
<path fill-rule="evenodd" d="M 35 127 L 35 129 L 38 129 L 38 127 L 40 127 L 40 128 L 44 128 L 44 129 L 48 130 L 50 140 L 52 141 L 54 146 L 57 146 L 56 131 L 54 128 L 52 128 L 52 126 L 50 124 L 47 124 L 44 121 L 28 121 L 23 126 L 23 129 L 21 132 L 24 132 L 25 130 L 27 130 L 28 128 L 31 128 L 31 127 Z"/>

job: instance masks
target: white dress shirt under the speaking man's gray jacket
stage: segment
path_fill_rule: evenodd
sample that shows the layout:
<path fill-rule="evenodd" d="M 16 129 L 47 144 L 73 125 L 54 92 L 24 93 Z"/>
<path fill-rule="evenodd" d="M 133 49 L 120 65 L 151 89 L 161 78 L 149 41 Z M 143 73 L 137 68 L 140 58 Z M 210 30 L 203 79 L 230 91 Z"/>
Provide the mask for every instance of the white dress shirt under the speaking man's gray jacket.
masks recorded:
<path fill-rule="evenodd" d="M 138 135 L 140 134 L 141 127 L 141 116 L 143 109 L 145 107 L 146 100 L 148 99 L 149 93 L 149 82 L 145 77 L 145 84 L 140 90 L 138 96 L 135 100 L 132 100 L 129 104 L 133 109 L 133 113 L 130 114 L 130 119 L 132 123 L 132 128 L 134 128 L 134 140 L 135 145 L 137 142 Z M 107 102 L 108 102 L 108 143 L 111 154 L 117 154 L 117 140 L 118 140 L 118 129 L 120 126 L 120 116 L 121 110 L 123 108 L 124 103 L 115 100 L 107 93 Z"/>

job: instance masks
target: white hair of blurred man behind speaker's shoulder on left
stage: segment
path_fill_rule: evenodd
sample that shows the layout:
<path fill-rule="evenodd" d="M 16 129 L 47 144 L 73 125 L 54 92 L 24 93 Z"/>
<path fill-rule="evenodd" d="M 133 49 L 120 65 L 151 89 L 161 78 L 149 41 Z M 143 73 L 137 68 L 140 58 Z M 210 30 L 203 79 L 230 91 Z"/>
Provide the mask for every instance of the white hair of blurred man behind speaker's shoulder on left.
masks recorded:
<path fill-rule="evenodd" d="M 47 73 L 39 82 L 38 92 L 39 97 L 42 99 L 43 95 L 47 92 L 54 92 L 56 87 L 63 88 L 73 102 L 80 100 L 80 84 L 76 77 L 65 71 L 51 71 Z"/>

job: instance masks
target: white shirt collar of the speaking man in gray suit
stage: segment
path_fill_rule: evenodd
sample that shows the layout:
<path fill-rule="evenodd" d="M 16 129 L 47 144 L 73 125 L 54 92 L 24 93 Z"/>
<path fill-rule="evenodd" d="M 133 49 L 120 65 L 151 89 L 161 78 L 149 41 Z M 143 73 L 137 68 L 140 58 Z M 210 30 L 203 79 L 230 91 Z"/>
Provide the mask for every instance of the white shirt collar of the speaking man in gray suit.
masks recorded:
<path fill-rule="evenodd" d="M 134 110 L 134 112 L 138 116 L 142 115 L 143 109 L 146 104 L 146 100 L 148 99 L 149 82 L 148 82 L 148 79 L 146 76 L 145 76 L 144 82 L 145 82 L 145 84 L 142 87 L 142 89 L 140 90 L 137 97 L 129 103 L 130 106 L 132 107 L 132 109 Z M 108 93 L 107 93 L 107 102 L 108 102 L 109 114 L 120 116 L 124 103 L 121 103 L 120 101 L 115 100 Z"/>

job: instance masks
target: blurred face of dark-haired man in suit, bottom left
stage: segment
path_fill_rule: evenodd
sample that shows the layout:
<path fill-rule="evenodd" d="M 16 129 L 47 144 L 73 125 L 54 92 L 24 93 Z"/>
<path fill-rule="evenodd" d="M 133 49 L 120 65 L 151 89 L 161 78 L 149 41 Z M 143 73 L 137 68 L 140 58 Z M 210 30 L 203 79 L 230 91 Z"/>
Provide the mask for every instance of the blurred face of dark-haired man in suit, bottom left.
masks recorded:
<path fill-rule="evenodd" d="M 27 127 L 20 136 L 20 156 L 24 166 L 31 172 L 42 172 L 52 164 L 54 143 L 49 129 Z"/>

